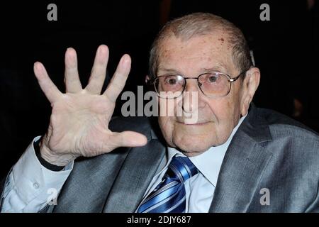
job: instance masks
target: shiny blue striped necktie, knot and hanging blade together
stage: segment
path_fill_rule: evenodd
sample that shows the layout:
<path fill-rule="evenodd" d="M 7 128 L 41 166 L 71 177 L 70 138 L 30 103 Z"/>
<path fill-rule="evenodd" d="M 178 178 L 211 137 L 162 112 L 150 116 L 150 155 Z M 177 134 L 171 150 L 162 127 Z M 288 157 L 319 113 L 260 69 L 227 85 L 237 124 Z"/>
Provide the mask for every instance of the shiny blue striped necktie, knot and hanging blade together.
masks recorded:
<path fill-rule="evenodd" d="M 173 157 L 162 182 L 151 192 L 138 213 L 184 213 L 186 193 L 184 182 L 198 173 L 188 157 Z"/>

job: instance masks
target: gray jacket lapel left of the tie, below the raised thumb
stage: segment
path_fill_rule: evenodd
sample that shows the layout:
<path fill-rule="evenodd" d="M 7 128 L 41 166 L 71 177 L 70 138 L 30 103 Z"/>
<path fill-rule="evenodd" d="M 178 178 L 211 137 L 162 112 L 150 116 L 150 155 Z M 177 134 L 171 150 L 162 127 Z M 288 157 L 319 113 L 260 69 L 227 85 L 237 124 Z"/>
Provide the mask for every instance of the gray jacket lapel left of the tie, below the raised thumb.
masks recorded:
<path fill-rule="evenodd" d="M 142 148 L 133 148 L 108 196 L 103 212 L 134 212 L 165 154 L 157 139 Z"/>

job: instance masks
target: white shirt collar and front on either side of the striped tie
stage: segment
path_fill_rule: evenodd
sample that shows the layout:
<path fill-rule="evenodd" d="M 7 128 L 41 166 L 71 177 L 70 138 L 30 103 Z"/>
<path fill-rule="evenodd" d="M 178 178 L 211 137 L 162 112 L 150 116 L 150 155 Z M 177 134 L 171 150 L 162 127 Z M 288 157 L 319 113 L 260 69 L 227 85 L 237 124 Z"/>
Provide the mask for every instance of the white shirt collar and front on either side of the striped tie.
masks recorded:
<path fill-rule="evenodd" d="M 233 139 L 233 135 L 235 135 L 246 116 L 240 118 L 240 121 L 237 123 L 237 126 L 233 129 L 233 132 L 225 143 L 216 147 L 211 147 L 206 152 L 201 153 L 201 155 L 189 157 L 189 160 L 193 162 L 199 172 L 197 175 L 194 175 L 184 182 L 186 192 L 186 213 L 208 212 L 211 207 L 211 202 L 213 201 L 213 194 L 215 192 L 220 167 L 223 163 L 226 150 L 230 145 L 230 141 Z M 153 177 L 150 186 L 144 194 L 144 199 L 160 182 L 162 182 L 162 178 L 174 155 L 185 157 L 179 150 L 167 148 L 166 164 Z"/>

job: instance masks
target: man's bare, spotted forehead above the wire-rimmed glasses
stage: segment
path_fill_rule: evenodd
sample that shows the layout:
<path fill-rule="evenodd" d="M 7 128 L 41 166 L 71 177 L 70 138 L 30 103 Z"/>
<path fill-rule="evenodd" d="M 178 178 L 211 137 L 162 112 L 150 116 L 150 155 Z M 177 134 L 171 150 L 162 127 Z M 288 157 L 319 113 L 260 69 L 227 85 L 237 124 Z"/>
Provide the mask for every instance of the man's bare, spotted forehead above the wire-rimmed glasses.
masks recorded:
<path fill-rule="evenodd" d="M 222 32 L 197 35 L 189 40 L 171 35 L 160 45 L 158 70 L 173 69 L 187 73 L 185 71 L 220 68 L 230 73 L 233 70 L 231 50 L 227 35 Z"/>

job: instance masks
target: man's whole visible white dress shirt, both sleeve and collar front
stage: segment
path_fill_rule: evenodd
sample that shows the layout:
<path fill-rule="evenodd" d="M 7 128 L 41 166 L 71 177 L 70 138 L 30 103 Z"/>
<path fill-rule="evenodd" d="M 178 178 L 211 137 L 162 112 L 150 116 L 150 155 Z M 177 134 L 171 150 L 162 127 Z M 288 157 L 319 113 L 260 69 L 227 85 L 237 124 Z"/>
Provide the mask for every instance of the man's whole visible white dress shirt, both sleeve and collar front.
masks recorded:
<path fill-rule="evenodd" d="M 245 116 L 240 118 L 239 123 L 223 145 L 212 147 L 201 155 L 189 158 L 199 172 L 185 182 L 186 212 L 208 212 L 226 150 L 244 119 Z M 36 137 L 33 142 L 39 138 L 40 136 Z M 53 196 L 60 193 L 63 184 L 73 169 L 74 162 L 71 162 L 62 171 L 47 170 L 36 157 L 33 142 L 28 146 L 16 165 L 13 166 L 6 179 L 2 194 L 1 212 L 40 211 L 50 202 Z M 159 172 L 153 177 L 145 192 L 145 197 L 162 181 L 162 177 L 174 155 L 184 156 L 174 148 L 167 148 L 167 155 L 162 162 L 162 168 L 159 168 Z"/>

